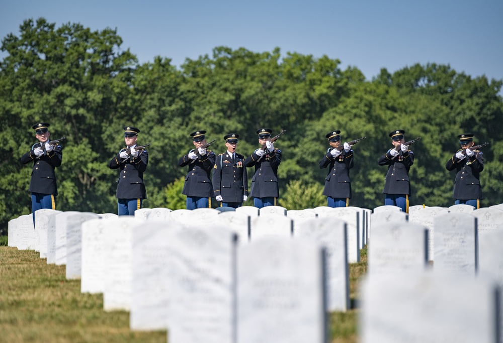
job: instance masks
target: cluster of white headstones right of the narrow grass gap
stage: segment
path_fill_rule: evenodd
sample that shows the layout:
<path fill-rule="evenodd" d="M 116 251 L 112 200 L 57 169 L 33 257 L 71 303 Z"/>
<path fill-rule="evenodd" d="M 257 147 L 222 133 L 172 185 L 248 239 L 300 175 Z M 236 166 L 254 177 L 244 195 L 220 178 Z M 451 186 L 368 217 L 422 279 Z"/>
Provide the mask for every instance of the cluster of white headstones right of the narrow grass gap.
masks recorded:
<path fill-rule="evenodd" d="M 502 209 L 373 213 L 362 341 L 503 342 Z"/>

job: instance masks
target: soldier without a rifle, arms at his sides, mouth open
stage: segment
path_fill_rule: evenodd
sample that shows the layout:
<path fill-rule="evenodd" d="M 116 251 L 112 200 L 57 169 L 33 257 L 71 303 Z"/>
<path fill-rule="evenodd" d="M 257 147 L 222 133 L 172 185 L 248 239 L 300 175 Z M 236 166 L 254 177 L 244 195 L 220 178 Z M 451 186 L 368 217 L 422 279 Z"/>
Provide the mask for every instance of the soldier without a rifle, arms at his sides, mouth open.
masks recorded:
<path fill-rule="evenodd" d="M 213 167 L 213 191 L 221 206 L 241 207 L 248 198 L 248 176 L 244 168 L 244 156 L 236 153 L 239 135 L 224 136 L 227 151 L 218 155 Z"/>

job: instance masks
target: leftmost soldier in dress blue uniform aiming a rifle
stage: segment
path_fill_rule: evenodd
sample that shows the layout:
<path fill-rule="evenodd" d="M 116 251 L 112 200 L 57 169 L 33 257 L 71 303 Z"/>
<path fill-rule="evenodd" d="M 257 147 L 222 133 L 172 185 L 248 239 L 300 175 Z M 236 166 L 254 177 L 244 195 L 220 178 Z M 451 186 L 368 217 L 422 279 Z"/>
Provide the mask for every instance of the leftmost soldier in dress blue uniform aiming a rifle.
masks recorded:
<path fill-rule="evenodd" d="M 49 144 L 49 123 L 35 124 L 35 137 L 39 143 L 35 143 L 31 150 L 21 157 L 21 163 L 33 162 L 29 192 L 32 193 L 33 223 L 35 223 L 35 211 L 41 208 L 56 209 L 56 184 L 55 167 L 61 165 L 63 153 L 59 144 Z"/>

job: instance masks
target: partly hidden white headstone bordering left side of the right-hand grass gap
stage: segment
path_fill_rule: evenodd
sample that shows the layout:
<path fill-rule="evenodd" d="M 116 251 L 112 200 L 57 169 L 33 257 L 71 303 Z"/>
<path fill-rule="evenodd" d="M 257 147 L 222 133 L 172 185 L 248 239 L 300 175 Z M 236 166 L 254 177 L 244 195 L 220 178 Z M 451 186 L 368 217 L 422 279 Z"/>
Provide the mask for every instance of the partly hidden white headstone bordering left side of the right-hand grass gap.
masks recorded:
<path fill-rule="evenodd" d="M 323 220 L 343 220 L 348 226 L 348 262 L 360 262 L 360 222 L 358 211 L 349 207 L 336 207 L 318 213 Z"/>

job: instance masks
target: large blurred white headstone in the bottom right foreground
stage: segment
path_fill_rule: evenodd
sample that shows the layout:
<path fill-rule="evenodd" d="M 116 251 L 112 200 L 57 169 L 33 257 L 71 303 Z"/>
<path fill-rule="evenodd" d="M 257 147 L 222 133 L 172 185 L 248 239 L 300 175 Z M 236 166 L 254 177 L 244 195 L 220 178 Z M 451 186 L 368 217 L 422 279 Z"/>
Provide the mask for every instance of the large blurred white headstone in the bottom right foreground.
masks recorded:
<path fill-rule="evenodd" d="M 363 283 L 362 343 L 497 341 L 497 289 L 435 273 L 370 276 Z"/>

